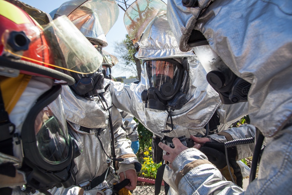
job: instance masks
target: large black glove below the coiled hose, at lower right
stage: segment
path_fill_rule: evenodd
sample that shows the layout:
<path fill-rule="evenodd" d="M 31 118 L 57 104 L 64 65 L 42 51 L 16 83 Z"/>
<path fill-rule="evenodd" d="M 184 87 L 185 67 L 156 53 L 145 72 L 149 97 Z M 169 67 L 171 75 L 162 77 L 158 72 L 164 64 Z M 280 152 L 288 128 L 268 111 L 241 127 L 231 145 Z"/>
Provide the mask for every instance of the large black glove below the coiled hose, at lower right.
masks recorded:
<path fill-rule="evenodd" d="M 199 150 L 208 157 L 208 160 L 220 170 L 221 174 L 228 181 L 232 181 L 227 167 L 224 143 L 217 141 L 206 142 Z M 227 148 L 227 155 L 234 182 L 242 188 L 243 177 L 241 174 L 241 169 L 236 163 L 236 146 Z"/>

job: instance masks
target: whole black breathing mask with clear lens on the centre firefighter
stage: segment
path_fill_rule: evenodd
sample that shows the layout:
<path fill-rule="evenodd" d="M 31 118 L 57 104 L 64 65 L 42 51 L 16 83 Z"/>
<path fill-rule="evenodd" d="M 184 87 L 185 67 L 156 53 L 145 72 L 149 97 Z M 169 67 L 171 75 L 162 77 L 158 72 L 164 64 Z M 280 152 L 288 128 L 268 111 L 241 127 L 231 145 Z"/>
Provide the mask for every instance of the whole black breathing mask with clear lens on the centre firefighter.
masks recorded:
<path fill-rule="evenodd" d="M 179 110 L 186 103 L 189 75 L 187 58 L 183 65 L 172 59 L 143 60 L 146 89 L 141 94 L 145 108 Z"/>

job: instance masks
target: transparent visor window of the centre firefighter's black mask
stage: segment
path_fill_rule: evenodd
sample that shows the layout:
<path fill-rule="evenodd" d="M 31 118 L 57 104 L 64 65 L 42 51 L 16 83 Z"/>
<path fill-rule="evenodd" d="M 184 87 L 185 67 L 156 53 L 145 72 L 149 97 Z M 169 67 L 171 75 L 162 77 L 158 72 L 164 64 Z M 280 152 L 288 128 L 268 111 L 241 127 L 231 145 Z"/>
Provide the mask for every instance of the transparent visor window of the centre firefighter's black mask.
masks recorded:
<path fill-rule="evenodd" d="M 180 63 L 174 60 L 145 60 L 143 61 L 146 77 L 146 88 L 154 87 L 164 96 L 170 96 L 180 86 L 181 72 Z"/>

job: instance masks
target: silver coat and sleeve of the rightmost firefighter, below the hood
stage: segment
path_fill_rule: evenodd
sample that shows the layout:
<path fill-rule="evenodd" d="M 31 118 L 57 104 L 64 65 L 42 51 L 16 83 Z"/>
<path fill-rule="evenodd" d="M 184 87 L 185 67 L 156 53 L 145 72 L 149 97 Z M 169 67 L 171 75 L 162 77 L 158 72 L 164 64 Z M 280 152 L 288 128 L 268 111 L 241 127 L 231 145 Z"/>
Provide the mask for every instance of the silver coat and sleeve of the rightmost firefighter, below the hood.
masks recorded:
<path fill-rule="evenodd" d="M 219 170 L 210 164 L 204 164 L 207 157 L 197 149 L 187 149 L 180 153 L 172 163 L 168 175 L 176 184 L 178 194 L 291 194 L 289 182 L 292 179 L 292 126 L 291 123 L 277 136 L 270 139 L 261 156 L 258 177 L 251 182 L 246 191 L 222 177 Z M 176 180 L 178 172 L 189 163 L 201 161 L 189 170 L 180 180 Z"/>

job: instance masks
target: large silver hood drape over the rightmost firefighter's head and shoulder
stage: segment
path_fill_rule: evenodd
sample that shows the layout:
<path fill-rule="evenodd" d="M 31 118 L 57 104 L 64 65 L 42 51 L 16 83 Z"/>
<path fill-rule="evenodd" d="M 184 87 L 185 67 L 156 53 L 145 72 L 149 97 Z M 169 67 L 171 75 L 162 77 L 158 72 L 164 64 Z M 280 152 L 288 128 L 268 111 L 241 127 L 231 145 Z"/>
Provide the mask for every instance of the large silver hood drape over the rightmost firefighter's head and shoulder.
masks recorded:
<path fill-rule="evenodd" d="M 215 1 L 200 16 L 211 48 L 238 77 L 251 83 L 251 124 L 266 137 L 292 116 L 292 2 Z"/>

